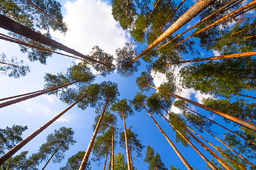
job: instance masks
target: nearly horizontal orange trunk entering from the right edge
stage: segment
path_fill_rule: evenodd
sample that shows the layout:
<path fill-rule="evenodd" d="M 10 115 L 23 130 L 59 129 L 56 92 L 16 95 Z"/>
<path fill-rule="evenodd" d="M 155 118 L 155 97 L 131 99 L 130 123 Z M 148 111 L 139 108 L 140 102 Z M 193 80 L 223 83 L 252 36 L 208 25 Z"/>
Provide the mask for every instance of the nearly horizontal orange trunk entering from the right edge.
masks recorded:
<path fill-rule="evenodd" d="M 173 65 L 173 64 L 181 64 L 185 62 L 202 62 L 202 61 L 209 61 L 209 60 L 220 60 L 220 59 L 227 59 L 227 58 L 237 58 L 237 57 L 247 57 L 247 56 L 252 56 L 256 55 L 256 51 L 252 52 L 241 52 L 237 54 L 232 54 L 232 55 L 221 55 L 221 56 L 216 56 L 216 57 L 206 57 L 206 58 L 199 58 L 195 60 L 185 60 L 182 62 L 174 62 L 174 63 L 169 63 L 166 64 L 165 66 Z"/>

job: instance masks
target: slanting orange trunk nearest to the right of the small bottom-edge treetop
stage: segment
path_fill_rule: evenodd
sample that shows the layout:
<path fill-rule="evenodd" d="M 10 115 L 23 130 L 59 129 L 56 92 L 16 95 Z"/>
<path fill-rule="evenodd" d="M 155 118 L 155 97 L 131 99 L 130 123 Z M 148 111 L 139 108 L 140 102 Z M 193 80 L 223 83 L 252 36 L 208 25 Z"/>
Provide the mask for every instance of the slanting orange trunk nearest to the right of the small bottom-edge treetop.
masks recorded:
<path fill-rule="evenodd" d="M 183 158 L 183 156 L 181 155 L 181 153 L 178 151 L 178 149 L 174 146 L 174 143 L 171 142 L 171 140 L 169 139 L 169 137 L 167 137 L 167 135 L 165 134 L 164 130 L 162 130 L 160 128 L 160 126 L 158 125 L 158 123 L 156 123 L 156 120 L 154 120 L 154 118 L 151 116 L 151 114 L 149 113 L 149 111 L 146 109 L 146 107 L 144 106 L 144 104 L 142 104 L 142 106 L 144 107 L 144 109 L 146 110 L 146 113 L 149 114 L 149 117 L 154 121 L 154 123 L 156 124 L 157 128 L 159 128 L 160 132 L 162 133 L 162 135 L 164 135 L 164 137 L 166 138 L 166 140 L 169 142 L 169 144 L 171 145 L 171 147 L 174 149 L 174 152 L 176 152 L 176 154 L 178 155 L 179 159 L 181 159 L 181 162 L 186 166 L 187 169 L 192 170 L 191 166 L 188 164 L 188 162 L 186 162 L 186 159 Z"/>

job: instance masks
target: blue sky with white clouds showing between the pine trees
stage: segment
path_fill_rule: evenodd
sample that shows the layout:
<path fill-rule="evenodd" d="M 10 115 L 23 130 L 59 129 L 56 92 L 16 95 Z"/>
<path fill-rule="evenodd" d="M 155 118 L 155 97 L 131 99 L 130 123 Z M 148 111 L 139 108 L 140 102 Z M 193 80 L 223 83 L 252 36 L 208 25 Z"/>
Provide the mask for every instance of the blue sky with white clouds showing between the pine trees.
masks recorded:
<path fill-rule="evenodd" d="M 78 0 L 60 1 L 60 3 L 63 5 L 64 21 L 68 24 L 69 30 L 65 36 L 55 32 L 51 34 L 53 35 L 53 39 L 62 42 L 64 45 L 74 48 L 85 55 L 89 54 L 93 46 L 98 45 L 106 52 L 114 55 L 115 49 L 123 47 L 125 42 L 132 40 L 129 33 L 122 30 L 119 24 L 112 18 L 109 1 Z M 187 2 L 186 4 L 191 5 L 191 2 Z M 192 25 L 196 21 L 198 21 L 197 18 L 193 19 L 193 21 L 191 21 L 192 23 L 189 24 Z M 6 31 L 0 29 L 0 33 L 6 33 Z M 143 50 L 143 48 L 144 45 L 138 45 L 138 52 Z M 0 98 L 43 89 L 43 76 L 46 73 L 56 74 L 58 72 L 65 72 L 73 62 L 76 62 L 73 59 L 60 55 L 53 55 L 53 57 L 48 58 L 47 65 L 40 64 L 39 62 L 29 62 L 26 58 L 26 54 L 19 52 L 18 45 L 3 40 L 0 41 L 0 52 L 4 52 L 7 57 L 16 56 L 19 60 L 24 60 L 24 62 L 31 67 L 31 72 L 26 77 L 19 79 L 9 78 L 0 74 Z M 213 52 L 202 52 L 201 55 L 213 55 Z M 139 67 L 139 72 L 134 74 L 133 77 L 120 77 L 114 72 L 107 77 L 98 76 L 96 82 L 114 81 L 118 84 L 120 92 L 119 98 L 132 99 L 136 92 L 139 91 L 136 85 L 136 78 L 139 77 L 140 73 L 144 70 L 145 64 L 142 62 L 142 66 Z M 157 85 L 162 80 L 164 80 L 164 77 L 159 77 L 155 78 L 154 82 Z M 154 90 L 151 90 L 151 92 L 154 92 Z M 194 101 L 201 101 L 203 97 L 202 94 L 192 89 L 183 89 L 180 95 L 191 98 Z M 14 124 L 28 125 L 28 130 L 23 133 L 23 138 L 25 138 L 67 107 L 67 104 L 62 103 L 55 96 L 39 96 L 29 101 L 23 101 L 13 106 L 1 108 L 0 128 L 6 128 L 6 126 L 11 127 Z M 178 112 L 175 108 L 172 109 Z M 208 115 L 208 113 L 198 108 L 197 111 Z M 68 157 L 76 154 L 78 151 L 87 149 L 87 145 L 92 136 L 92 123 L 94 122 L 95 115 L 94 109 L 92 108 L 87 108 L 85 111 L 82 111 L 75 106 L 65 113 L 60 120 L 50 125 L 49 128 L 41 132 L 40 135 L 23 147 L 21 151 L 28 150 L 29 154 L 37 152 L 43 142 L 46 142 L 46 136 L 50 132 L 63 126 L 73 128 L 75 131 L 75 140 L 78 142 L 74 146 L 71 146 L 68 152 L 65 153 L 65 159 L 60 164 L 50 163 L 47 168 L 59 169 L 61 166 L 65 165 Z M 175 143 L 175 134 L 169 124 L 166 123 L 164 119 L 160 118 L 160 115 L 153 116 L 170 137 L 171 141 Z M 129 117 L 127 119 L 127 127 L 129 126 L 132 126 L 132 130 L 139 134 L 139 140 L 142 141 L 143 145 L 151 145 L 151 147 L 161 155 L 162 161 L 167 168 L 169 168 L 171 164 L 177 168 L 185 169 L 181 160 L 178 159 L 174 150 L 161 135 L 161 132 L 156 128 L 145 111 L 140 113 L 135 112 L 132 117 Z M 118 128 L 122 130 L 122 121 L 120 119 Z M 219 137 L 221 137 L 220 134 L 218 134 Z M 205 133 L 203 133 L 203 136 L 207 139 L 212 139 Z M 180 143 L 175 143 L 175 145 L 191 166 L 197 167 L 198 169 L 206 169 L 206 163 L 203 162 L 203 159 L 201 159 L 191 147 L 184 148 Z M 208 159 L 211 158 L 200 146 L 196 145 L 196 147 L 198 147 Z M 134 161 L 134 166 L 137 169 L 147 169 L 148 165 L 143 162 L 145 150 L 146 148 L 142 152 L 142 158 L 137 158 L 137 160 Z M 124 149 L 117 147 L 115 153 L 117 154 L 119 151 L 125 154 Z M 92 158 L 92 154 L 90 158 Z M 102 162 L 103 161 L 104 160 L 102 160 Z M 97 166 L 94 162 L 91 162 L 91 164 L 92 169 L 102 169 L 102 166 Z M 41 166 L 43 166 L 43 164 L 41 164 Z"/>

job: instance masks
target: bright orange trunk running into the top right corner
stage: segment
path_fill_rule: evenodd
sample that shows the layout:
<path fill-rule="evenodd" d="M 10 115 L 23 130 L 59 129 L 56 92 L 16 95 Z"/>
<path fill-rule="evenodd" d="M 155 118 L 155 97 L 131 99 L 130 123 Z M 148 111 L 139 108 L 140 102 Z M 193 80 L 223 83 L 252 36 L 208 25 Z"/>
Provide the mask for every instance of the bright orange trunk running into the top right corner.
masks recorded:
<path fill-rule="evenodd" d="M 249 8 L 250 6 L 253 6 L 256 4 L 256 1 L 252 1 L 250 2 L 249 4 L 245 5 L 245 6 L 242 6 L 241 8 L 239 8 L 238 10 L 235 10 L 233 13 L 230 13 L 226 16 L 224 16 L 223 18 L 220 18 L 218 21 L 215 21 L 214 23 L 211 23 L 209 26 L 206 26 L 206 28 L 203 28 L 201 30 L 198 30 L 198 32 L 196 33 L 193 33 L 193 35 L 189 36 L 188 38 L 185 38 L 184 40 L 182 40 L 181 42 L 178 42 L 174 47 L 176 47 L 177 45 L 181 44 L 182 42 L 188 40 L 189 38 L 192 38 L 193 36 L 195 35 L 198 35 L 198 33 L 202 33 L 203 31 L 205 30 L 208 30 L 210 28 L 212 28 L 213 26 L 216 26 L 218 25 L 219 23 L 222 23 L 223 21 L 225 21 L 226 19 L 232 17 L 232 16 L 235 16 L 235 14 L 237 13 L 240 13 L 242 11 L 244 11 L 246 8 Z M 239 14 L 240 15 L 240 14 Z"/>

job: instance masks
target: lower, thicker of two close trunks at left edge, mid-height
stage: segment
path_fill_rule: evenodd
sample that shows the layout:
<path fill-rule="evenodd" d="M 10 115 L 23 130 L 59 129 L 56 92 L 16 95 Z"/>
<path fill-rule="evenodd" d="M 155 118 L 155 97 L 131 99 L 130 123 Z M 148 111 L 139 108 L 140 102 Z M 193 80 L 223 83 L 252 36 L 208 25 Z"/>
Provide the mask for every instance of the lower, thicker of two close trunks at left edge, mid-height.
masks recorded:
<path fill-rule="evenodd" d="M 18 102 L 21 102 L 21 101 L 26 101 L 26 100 L 28 100 L 29 98 L 34 98 L 34 97 L 40 96 L 40 95 L 42 95 L 42 94 L 47 94 L 47 93 L 50 92 L 50 91 L 55 91 L 55 90 L 57 90 L 57 89 L 63 88 L 63 87 L 65 87 L 65 86 L 69 86 L 69 85 L 74 84 L 74 83 L 76 83 L 76 82 L 78 82 L 78 81 L 75 81 L 75 82 L 69 83 L 69 84 L 64 84 L 64 85 L 61 85 L 61 86 L 57 86 L 57 87 L 48 89 L 48 90 L 46 90 L 46 91 L 41 91 L 41 92 L 39 92 L 39 93 L 37 93 L 37 94 L 31 94 L 30 96 L 25 96 L 25 97 L 21 97 L 21 98 L 16 98 L 16 99 L 14 99 L 14 100 L 12 100 L 12 101 L 6 101 L 6 102 L 4 102 L 4 103 L 0 103 L 0 108 L 4 108 L 4 107 L 6 107 L 6 106 L 10 106 L 10 105 L 12 105 L 12 104 L 15 104 L 15 103 L 18 103 Z"/>

